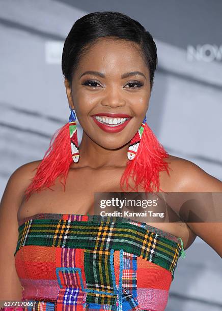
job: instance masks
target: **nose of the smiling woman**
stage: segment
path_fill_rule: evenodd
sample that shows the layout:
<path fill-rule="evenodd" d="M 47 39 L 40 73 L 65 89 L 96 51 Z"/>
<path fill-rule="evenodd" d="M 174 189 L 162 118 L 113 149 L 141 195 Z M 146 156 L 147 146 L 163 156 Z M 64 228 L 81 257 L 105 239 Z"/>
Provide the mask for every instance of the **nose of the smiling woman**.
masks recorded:
<path fill-rule="evenodd" d="M 123 98 L 123 95 L 120 94 L 120 91 L 118 91 L 116 87 L 112 87 L 105 91 L 105 96 L 101 101 L 101 105 L 117 108 L 125 106 L 126 101 Z"/>

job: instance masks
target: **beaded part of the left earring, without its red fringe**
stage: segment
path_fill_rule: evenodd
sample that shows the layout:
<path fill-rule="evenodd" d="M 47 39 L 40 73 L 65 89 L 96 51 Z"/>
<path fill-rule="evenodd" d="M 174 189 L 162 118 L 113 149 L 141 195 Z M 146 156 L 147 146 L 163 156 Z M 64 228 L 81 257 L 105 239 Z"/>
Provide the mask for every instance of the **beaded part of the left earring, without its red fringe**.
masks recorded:
<path fill-rule="evenodd" d="M 69 106 L 71 111 L 69 117 L 69 133 L 71 139 L 71 152 L 72 159 L 75 163 L 79 160 L 79 150 L 78 150 L 78 137 L 77 137 L 77 126 L 76 126 L 76 116 L 74 110 Z"/>

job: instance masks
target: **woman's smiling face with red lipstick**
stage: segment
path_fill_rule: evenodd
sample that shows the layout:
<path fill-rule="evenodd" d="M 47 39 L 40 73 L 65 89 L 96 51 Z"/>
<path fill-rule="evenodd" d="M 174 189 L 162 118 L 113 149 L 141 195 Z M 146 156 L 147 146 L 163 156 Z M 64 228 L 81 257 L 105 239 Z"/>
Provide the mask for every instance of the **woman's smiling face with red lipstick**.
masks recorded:
<path fill-rule="evenodd" d="M 132 72 L 137 73 L 128 74 Z M 137 46 L 110 38 L 99 40 L 81 57 L 72 91 L 66 80 L 65 85 L 82 129 L 106 149 L 120 148 L 131 140 L 143 122 L 151 94 L 149 69 Z"/>

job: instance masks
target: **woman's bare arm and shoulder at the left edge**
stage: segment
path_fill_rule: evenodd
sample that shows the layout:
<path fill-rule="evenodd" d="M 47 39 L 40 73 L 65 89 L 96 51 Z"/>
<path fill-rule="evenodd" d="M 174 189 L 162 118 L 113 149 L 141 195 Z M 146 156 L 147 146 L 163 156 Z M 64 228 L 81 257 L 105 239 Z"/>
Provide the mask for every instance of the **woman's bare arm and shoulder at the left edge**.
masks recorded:
<path fill-rule="evenodd" d="M 10 176 L 0 203 L 0 300 L 21 301 L 22 287 L 14 262 L 18 240 L 17 212 L 39 162 L 22 165 Z"/>

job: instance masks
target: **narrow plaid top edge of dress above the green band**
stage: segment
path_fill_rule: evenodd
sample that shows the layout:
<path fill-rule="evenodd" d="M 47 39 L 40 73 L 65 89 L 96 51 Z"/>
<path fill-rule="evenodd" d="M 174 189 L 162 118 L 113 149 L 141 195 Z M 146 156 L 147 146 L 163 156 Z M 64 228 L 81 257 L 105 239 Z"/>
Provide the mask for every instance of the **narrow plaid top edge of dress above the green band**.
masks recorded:
<path fill-rule="evenodd" d="M 74 219 L 70 219 L 70 218 Z M 181 246 L 183 246 L 183 241 L 180 237 L 177 237 L 176 235 L 173 235 L 169 232 L 163 231 L 159 228 L 156 228 L 154 226 L 151 226 L 147 223 L 143 223 L 143 222 L 139 222 L 139 221 L 134 221 L 132 219 L 130 219 L 129 217 L 123 217 L 123 216 L 101 216 L 101 215 L 95 215 L 95 214 L 70 214 L 70 213 L 46 213 L 46 212 L 42 212 L 42 213 L 36 213 L 34 215 L 31 216 L 27 216 L 27 217 L 23 217 L 22 219 L 18 220 L 18 226 L 22 226 L 24 225 L 27 221 L 34 219 L 34 220 L 71 220 L 71 221 L 77 221 L 77 222 L 81 222 L 81 221 L 86 221 L 86 217 L 90 217 L 90 221 L 95 222 L 98 220 L 102 220 L 102 221 L 112 221 L 114 219 L 119 219 L 119 220 L 123 220 L 125 219 L 125 221 L 131 221 L 132 223 L 136 224 L 136 223 L 140 223 L 140 224 L 144 224 L 145 228 L 148 229 L 151 232 L 154 232 L 156 234 L 159 234 L 160 236 L 163 236 L 166 239 L 169 240 L 173 240 L 177 243 L 179 243 Z"/>

